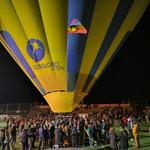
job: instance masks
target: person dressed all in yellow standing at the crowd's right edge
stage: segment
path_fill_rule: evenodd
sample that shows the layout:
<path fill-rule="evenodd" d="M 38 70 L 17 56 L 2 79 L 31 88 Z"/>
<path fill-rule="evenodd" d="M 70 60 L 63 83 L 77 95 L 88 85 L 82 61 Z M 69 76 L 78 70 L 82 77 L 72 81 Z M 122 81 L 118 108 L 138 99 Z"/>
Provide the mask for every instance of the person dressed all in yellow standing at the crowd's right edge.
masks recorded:
<path fill-rule="evenodd" d="M 134 126 L 133 126 L 133 137 L 134 137 L 134 142 L 135 142 L 135 146 L 136 148 L 140 147 L 140 142 L 139 142 L 139 124 L 137 121 L 134 122 Z"/>

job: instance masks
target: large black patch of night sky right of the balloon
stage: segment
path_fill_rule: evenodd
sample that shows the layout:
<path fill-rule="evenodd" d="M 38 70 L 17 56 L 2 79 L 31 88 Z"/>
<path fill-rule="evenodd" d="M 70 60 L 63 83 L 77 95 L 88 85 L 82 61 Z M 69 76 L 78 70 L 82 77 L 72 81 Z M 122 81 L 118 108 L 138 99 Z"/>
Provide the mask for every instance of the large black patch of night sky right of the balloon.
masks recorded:
<path fill-rule="evenodd" d="M 150 5 L 85 99 L 95 103 L 150 101 Z"/>

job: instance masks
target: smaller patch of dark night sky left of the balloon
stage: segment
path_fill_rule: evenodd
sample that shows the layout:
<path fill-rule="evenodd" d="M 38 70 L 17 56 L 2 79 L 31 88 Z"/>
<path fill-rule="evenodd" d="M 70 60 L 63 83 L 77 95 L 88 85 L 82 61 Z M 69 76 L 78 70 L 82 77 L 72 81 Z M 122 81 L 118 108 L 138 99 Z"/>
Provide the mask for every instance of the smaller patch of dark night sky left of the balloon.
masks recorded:
<path fill-rule="evenodd" d="M 0 102 L 31 102 L 42 96 L 0 45 Z"/>

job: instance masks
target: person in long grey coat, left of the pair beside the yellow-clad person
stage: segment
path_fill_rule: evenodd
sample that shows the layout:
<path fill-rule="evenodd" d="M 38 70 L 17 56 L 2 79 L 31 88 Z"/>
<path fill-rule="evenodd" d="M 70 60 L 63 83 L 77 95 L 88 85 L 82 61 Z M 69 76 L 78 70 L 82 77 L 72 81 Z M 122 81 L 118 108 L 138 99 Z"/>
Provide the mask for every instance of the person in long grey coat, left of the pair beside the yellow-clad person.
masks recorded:
<path fill-rule="evenodd" d="M 112 150 L 117 150 L 117 137 L 114 128 L 109 129 L 110 147 Z"/>

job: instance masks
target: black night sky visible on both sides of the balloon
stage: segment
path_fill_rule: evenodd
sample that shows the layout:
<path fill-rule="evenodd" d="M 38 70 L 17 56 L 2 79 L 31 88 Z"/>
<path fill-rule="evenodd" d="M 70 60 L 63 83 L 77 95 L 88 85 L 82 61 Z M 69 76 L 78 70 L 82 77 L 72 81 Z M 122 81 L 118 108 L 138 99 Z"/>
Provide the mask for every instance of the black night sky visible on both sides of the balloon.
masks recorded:
<path fill-rule="evenodd" d="M 150 6 L 85 101 L 150 101 Z M 0 45 L 0 102 L 44 101 L 11 56 Z"/>

